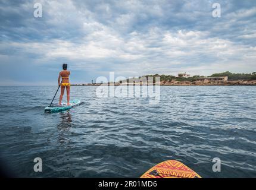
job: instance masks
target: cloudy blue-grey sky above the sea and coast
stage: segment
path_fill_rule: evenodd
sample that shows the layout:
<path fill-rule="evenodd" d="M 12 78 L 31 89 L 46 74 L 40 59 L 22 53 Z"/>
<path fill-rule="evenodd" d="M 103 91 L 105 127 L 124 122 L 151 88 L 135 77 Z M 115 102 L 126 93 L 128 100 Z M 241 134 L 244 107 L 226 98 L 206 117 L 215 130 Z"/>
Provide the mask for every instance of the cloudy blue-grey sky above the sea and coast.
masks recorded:
<path fill-rule="evenodd" d="M 256 1 L 0 0 L 0 85 L 56 85 L 63 62 L 72 83 L 254 72 Z"/>

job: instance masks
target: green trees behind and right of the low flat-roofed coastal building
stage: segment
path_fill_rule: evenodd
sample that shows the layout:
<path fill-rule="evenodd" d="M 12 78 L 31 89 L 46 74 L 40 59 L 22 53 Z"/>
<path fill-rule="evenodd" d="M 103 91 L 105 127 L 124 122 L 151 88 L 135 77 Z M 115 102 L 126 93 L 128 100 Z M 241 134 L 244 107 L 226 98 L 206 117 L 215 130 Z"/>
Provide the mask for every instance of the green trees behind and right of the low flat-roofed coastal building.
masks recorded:
<path fill-rule="evenodd" d="M 256 80 L 256 72 L 252 72 L 252 74 L 247 73 L 232 73 L 229 71 L 221 72 L 221 73 L 215 73 L 211 75 L 210 77 L 229 77 L 229 81 L 235 81 L 235 80 Z"/>

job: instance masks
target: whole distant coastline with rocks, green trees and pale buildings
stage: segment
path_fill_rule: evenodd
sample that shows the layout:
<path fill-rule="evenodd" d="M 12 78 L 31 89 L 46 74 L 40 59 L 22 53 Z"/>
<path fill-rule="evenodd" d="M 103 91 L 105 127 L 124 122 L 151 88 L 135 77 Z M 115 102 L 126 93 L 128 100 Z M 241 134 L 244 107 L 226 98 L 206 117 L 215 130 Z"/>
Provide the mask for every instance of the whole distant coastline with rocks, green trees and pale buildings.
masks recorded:
<path fill-rule="evenodd" d="M 155 85 L 156 78 L 160 78 L 160 85 L 256 85 L 256 72 L 249 74 L 232 73 L 229 71 L 216 73 L 208 77 L 179 73 L 177 77 L 173 75 L 144 75 L 142 77 L 127 78 L 123 81 L 111 83 L 86 83 L 71 85 Z M 143 80 L 142 80 L 143 78 Z M 148 82 L 143 83 L 143 81 Z M 150 81 L 150 82 L 149 82 Z M 158 82 L 159 84 L 159 82 Z"/>

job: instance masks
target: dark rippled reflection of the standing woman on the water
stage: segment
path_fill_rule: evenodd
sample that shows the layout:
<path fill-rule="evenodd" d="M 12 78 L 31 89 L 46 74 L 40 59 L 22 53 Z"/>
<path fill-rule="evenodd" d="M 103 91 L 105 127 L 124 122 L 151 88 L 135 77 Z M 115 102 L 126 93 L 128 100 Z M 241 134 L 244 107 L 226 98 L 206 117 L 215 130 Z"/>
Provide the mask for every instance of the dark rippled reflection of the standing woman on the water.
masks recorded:
<path fill-rule="evenodd" d="M 60 115 L 60 124 L 57 125 L 57 129 L 59 132 L 58 143 L 60 144 L 69 143 L 70 139 L 67 138 L 66 133 L 72 127 L 71 113 L 69 111 L 60 112 L 59 115 Z"/>

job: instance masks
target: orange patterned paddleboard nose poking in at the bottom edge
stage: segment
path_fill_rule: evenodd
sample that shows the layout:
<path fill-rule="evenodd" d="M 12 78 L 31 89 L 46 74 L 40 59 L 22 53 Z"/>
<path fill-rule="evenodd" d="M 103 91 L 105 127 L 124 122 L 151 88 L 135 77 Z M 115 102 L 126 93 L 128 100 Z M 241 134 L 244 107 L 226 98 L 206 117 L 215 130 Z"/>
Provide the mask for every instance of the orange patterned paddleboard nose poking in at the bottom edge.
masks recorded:
<path fill-rule="evenodd" d="M 201 176 L 177 160 L 167 160 L 149 169 L 141 178 L 201 178 Z"/>

